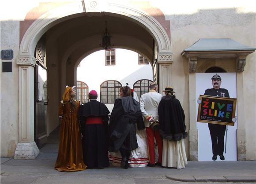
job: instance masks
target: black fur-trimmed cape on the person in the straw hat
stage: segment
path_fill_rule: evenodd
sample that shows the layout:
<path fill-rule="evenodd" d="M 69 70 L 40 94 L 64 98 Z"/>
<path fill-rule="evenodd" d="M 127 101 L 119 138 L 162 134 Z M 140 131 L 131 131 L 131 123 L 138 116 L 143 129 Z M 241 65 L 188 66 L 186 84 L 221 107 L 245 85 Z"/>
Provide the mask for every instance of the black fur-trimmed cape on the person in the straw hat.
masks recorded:
<path fill-rule="evenodd" d="M 175 96 L 162 97 L 158 107 L 160 134 L 166 140 L 181 140 L 188 136 L 185 114 Z"/>

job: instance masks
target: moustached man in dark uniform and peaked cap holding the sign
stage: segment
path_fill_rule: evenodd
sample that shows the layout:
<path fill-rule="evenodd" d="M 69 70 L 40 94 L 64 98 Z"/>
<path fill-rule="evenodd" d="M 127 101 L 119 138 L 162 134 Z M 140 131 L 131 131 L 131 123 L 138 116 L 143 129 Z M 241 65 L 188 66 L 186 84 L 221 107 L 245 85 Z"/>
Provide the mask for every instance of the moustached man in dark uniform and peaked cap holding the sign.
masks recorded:
<path fill-rule="evenodd" d="M 211 77 L 211 82 L 213 88 L 207 89 L 204 92 L 204 95 L 209 96 L 221 96 L 221 97 L 230 97 L 228 90 L 225 88 L 220 88 L 221 85 L 221 77 L 215 74 Z M 226 131 L 226 125 L 217 125 L 208 123 L 208 127 L 211 134 L 211 145 L 212 145 L 212 160 L 217 159 L 217 155 L 221 160 L 225 160 L 223 156 L 224 152 L 224 136 Z"/>

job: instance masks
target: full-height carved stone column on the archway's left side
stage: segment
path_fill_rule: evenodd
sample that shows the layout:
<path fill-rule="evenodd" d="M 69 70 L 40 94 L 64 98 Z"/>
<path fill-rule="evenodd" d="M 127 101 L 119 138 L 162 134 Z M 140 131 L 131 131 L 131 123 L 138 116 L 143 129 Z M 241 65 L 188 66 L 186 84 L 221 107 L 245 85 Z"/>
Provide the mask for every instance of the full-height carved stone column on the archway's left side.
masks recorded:
<path fill-rule="evenodd" d="M 39 149 L 34 142 L 34 66 L 33 56 L 18 56 L 19 66 L 19 143 L 15 159 L 35 159 Z"/>

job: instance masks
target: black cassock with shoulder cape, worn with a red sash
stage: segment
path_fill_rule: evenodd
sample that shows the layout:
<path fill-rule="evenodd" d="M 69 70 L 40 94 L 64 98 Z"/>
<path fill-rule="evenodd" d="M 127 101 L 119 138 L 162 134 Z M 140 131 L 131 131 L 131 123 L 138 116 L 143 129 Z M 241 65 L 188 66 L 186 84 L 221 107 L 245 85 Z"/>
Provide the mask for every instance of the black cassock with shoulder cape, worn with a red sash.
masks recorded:
<path fill-rule="evenodd" d="M 81 132 L 83 134 L 83 161 L 88 169 L 109 166 L 107 151 L 107 125 L 109 110 L 97 100 L 83 104 L 79 109 Z M 85 124 L 89 118 L 102 118 L 102 124 Z"/>

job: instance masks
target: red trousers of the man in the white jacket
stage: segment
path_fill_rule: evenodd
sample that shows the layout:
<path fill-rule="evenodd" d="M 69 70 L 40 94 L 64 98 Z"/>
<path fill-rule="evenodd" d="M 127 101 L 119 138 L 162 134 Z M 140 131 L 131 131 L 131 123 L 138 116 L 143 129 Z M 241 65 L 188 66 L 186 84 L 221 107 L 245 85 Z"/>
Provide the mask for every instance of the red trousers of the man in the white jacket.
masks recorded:
<path fill-rule="evenodd" d="M 149 152 L 149 162 L 155 164 L 155 154 L 154 154 L 154 138 L 158 147 L 158 162 L 162 163 L 162 150 L 163 150 L 163 141 L 158 132 L 158 130 L 152 130 L 151 127 L 146 127 L 147 133 L 147 143 L 148 143 L 148 152 Z"/>

